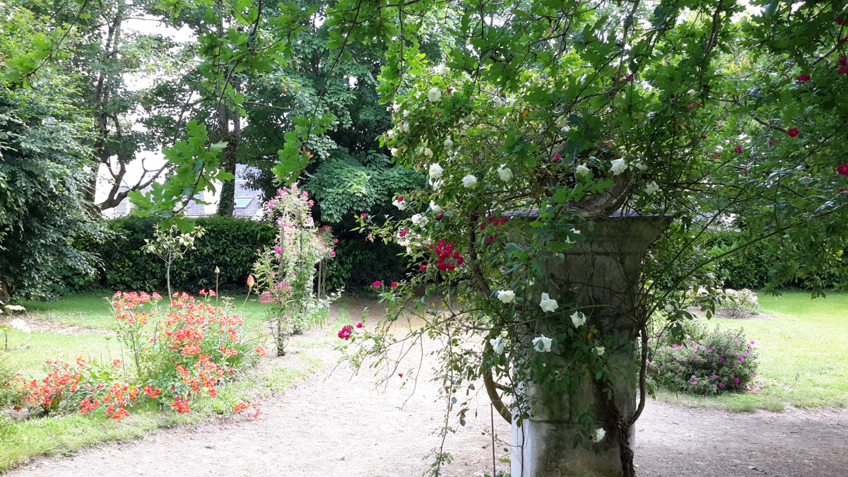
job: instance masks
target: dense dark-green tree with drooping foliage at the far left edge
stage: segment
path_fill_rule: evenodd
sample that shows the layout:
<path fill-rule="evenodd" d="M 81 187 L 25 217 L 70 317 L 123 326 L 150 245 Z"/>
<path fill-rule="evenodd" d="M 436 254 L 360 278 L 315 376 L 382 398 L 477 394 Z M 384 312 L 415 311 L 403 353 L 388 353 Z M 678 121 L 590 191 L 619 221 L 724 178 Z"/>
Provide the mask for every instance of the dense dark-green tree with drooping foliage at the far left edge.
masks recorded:
<path fill-rule="evenodd" d="M 0 296 L 43 298 L 63 272 L 92 273 L 75 238 L 101 230 L 84 199 L 89 128 L 74 104 L 75 77 L 42 68 L 39 48 L 58 40 L 25 8 L 0 8 Z"/>

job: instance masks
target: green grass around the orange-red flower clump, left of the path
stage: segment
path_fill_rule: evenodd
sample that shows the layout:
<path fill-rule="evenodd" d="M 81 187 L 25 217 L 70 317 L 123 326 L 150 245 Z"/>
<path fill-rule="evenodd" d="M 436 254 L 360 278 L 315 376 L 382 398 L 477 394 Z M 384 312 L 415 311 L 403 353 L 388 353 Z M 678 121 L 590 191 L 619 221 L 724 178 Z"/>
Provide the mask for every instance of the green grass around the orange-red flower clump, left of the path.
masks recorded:
<path fill-rule="evenodd" d="M 236 312 L 251 328 L 261 327 L 264 309 L 255 296 L 233 300 Z M 114 329 L 109 315 L 109 305 L 101 295 L 78 295 L 57 302 L 25 302 L 31 317 L 56 321 L 83 328 Z M 92 356 L 98 360 L 124 359 L 117 337 L 105 334 L 67 334 L 53 332 L 19 331 L 8 333 L 6 354 L 14 368 L 26 379 L 42 377 L 44 362 L 59 357 L 73 362 L 76 356 Z M 330 330 L 318 340 L 331 346 Z M 0 336 L 0 340 L 2 340 Z M 238 401 L 256 401 L 271 392 L 286 390 L 290 384 L 308 379 L 323 367 L 321 359 L 310 352 L 315 343 L 309 340 L 292 340 L 287 356 L 263 360 L 257 368 L 248 370 L 242 377 L 218 387 L 215 399 L 203 396 L 192 401 L 192 412 L 181 415 L 169 409 L 159 409 L 153 401 L 142 401 L 131 408 L 130 416 L 120 421 L 105 418 L 100 413 L 81 415 L 68 413 L 46 418 L 16 420 L 0 415 L 0 473 L 30 457 L 43 454 L 72 454 L 82 447 L 103 441 L 127 441 L 161 427 L 198 423 L 204 419 L 232 414 Z"/>

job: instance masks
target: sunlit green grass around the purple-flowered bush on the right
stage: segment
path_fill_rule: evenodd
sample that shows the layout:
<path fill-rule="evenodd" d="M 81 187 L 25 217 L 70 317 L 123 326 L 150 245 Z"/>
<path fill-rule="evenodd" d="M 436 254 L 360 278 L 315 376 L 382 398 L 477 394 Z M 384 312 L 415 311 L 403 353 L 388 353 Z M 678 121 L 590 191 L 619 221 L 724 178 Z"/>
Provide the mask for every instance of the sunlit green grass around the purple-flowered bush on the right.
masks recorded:
<path fill-rule="evenodd" d="M 756 341 L 760 368 L 756 393 L 695 397 L 658 393 L 685 405 L 734 411 L 780 410 L 785 406 L 848 406 L 848 294 L 811 300 L 789 292 L 760 296 L 762 311 L 772 319 L 713 318 L 722 328 L 744 328 Z"/>

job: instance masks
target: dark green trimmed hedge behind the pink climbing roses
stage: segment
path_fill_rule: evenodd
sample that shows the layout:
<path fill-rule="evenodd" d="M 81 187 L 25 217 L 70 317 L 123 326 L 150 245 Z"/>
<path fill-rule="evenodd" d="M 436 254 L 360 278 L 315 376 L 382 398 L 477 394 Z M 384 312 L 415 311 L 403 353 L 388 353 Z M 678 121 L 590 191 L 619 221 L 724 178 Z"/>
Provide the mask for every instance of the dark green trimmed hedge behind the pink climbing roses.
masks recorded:
<path fill-rule="evenodd" d="M 215 287 L 215 267 L 220 268 L 219 289 L 244 290 L 253 272 L 256 249 L 271 245 L 276 230 L 265 222 L 231 216 L 195 219 L 206 229 L 195 242 L 196 250 L 175 261 L 170 270 L 171 288 L 188 293 Z M 85 277 L 76 270 L 60 272 L 53 292 L 70 295 L 93 289 L 165 291 L 165 264 L 159 257 L 142 252 L 144 239 L 153 238 L 156 220 L 135 216 L 108 221 L 113 233 L 105 243 L 78 242 L 82 250 L 98 255 L 97 277 Z M 344 289 L 354 295 L 373 295 L 375 280 L 393 281 L 404 277 L 406 260 L 398 256 L 397 245 L 366 241 L 360 233 L 341 233 L 336 259 L 327 270 L 327 289 Z"/>

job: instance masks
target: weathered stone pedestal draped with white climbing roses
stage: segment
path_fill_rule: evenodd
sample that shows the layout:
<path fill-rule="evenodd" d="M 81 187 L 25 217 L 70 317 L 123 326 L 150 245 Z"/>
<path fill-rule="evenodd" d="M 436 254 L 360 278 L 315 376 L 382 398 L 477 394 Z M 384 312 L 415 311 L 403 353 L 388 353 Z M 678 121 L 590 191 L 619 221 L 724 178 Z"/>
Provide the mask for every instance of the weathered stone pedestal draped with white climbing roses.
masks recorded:
<path fill-rule="evenodd" d="M 602 330 L 605 337 L 615 338 L 615 349 L 606 348 L 608 359 L 619 362 L 628 374 L 628 378 L 614 379 L 612 386 L 616 406 L 624 418 L 632 417 L 636 410 L 640 267 L 648 247 L 668 223 L 669 219 L 659 216 L 614 216 L 595 222 L 594 232 L 587 233 L 586 241 L 566 252 L 565 260 L 549 261 L 550 283 L 545 283 L 542 290 L 556 296 L 559 303 L 574 300 L 577 306 L 595 306 L 585 313 L 588 323 Z M 562 319 L 571 323 L 567 316 Z M 543 334 L 544 329 L 550 328 L 550 323 L 536 323 L 536 329 Z M 544 396 L 530 383 L 523 387 L 530 418 L 520 420 L 518 412 L 513 412 L 513 477 L 622 474 L 616 429 L 605 420 L 603 391 L 596 389 L 590 379 L 573 396 L 573 403 L 569 396 Z M 594 443 L 585 438 L 582 444 L 574 446 L 576 436 L 585 425 L 577 421 L 577 410 L 587 408 L 594 428 L 606 431 L 599 452 L 595 452 Z M 631 448 L 635 445 L 634 436 L 634 429 L 631 429 Z"/>

